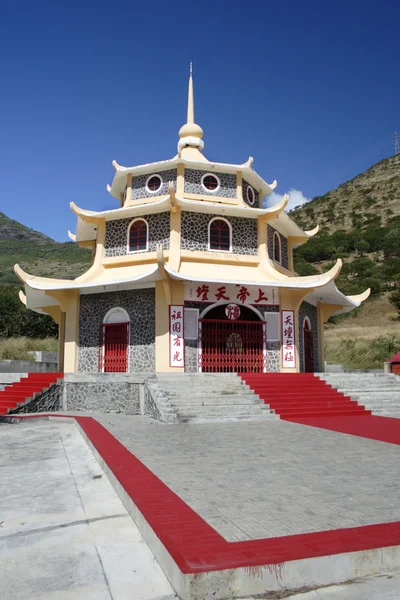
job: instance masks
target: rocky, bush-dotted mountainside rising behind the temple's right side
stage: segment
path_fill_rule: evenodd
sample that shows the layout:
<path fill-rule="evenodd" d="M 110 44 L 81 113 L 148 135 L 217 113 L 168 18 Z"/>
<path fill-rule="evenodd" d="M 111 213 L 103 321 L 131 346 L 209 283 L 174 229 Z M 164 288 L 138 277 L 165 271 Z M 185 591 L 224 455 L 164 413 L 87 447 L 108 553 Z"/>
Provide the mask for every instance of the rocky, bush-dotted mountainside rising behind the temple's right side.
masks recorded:
<path fill-rule="evenodd" d="M 303 229 L 320 232 L 295 251 L 300 275 L 329 269 L 338 258 L 345 293 L 373 294 L 400 286 L 400 154 L 379 163 L 324 196 L 295 208 Z"/>

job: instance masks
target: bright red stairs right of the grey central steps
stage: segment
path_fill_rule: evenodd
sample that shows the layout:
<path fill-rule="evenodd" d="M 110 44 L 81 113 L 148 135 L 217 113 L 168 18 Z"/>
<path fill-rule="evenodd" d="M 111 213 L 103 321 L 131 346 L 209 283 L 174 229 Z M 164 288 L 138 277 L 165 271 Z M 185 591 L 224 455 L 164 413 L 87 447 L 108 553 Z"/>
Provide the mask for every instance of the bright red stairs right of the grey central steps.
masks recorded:
<path fill-rule="evenodd" d="M 240 376 L 281 419 L 371 414 L 314 373 L 241 373 Z"/>

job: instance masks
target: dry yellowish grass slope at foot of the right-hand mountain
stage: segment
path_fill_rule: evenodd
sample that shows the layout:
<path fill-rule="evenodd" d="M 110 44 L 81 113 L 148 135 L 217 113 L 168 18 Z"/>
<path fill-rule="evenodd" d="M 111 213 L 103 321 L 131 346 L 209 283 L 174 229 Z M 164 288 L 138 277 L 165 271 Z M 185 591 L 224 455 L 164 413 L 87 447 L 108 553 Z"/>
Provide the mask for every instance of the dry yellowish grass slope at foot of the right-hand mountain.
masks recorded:
<path fill-rule="evenodd" d="M 400 321 L 387 296 L 373 298 L 325 331 L 325 359 L 348 369 L 379 369 L 400 350 Z"/>

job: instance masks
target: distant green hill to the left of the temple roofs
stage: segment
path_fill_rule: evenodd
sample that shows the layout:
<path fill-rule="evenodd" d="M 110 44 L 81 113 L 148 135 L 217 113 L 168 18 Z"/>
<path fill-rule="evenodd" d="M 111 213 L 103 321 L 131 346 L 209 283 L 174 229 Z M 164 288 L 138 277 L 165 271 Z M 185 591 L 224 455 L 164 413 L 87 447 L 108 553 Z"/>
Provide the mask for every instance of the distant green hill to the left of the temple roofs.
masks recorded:
<path fill-rule="evenodd" d="M 19 283 L 13 267 L 42 277 L 74 279 L 92 262 L 90 250 L 74 242 L 58 243 L 0 213 L 0 284 Z"/>

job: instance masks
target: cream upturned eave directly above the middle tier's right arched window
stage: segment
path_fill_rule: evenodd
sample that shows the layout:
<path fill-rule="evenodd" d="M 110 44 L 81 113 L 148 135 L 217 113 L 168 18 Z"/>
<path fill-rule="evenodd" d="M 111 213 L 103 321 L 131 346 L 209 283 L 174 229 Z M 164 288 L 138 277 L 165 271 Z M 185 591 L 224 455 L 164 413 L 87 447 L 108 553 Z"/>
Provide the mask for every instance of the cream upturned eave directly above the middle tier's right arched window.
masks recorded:
<path fill-rule="evenodd" d="M 279 214 L 282 212 L 288 202 L 288 197 L 284 198 L 268 208 L 251 208 L 247 204 L 224 204 L 223 202 L 210 202 L 205 200 L 185 200 L 176 196 L 177 204 L 186 212 L 208 213 L 215 215 L 230 215 L 234 217 L 247 217 L 256 219 L 264 215 Z"/>

